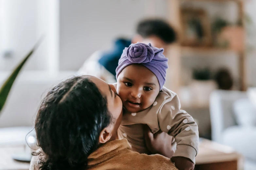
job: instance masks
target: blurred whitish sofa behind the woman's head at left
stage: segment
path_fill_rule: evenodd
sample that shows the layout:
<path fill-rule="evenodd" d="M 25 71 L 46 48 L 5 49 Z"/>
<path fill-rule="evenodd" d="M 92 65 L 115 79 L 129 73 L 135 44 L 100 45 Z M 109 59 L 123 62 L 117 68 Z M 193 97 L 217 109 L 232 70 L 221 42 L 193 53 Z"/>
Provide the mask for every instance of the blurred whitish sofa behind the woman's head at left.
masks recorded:
<path fill-rule="evenodd" d="M 9 76 L 0 72 L 0 86 Z M 0 145 L 24 144 L 27 133 L 33 129 L 38 107 L 54 84 L 75 75 L 75 72 L 24 71 L 14 82 L 6 105 L 0 114 Z"/>

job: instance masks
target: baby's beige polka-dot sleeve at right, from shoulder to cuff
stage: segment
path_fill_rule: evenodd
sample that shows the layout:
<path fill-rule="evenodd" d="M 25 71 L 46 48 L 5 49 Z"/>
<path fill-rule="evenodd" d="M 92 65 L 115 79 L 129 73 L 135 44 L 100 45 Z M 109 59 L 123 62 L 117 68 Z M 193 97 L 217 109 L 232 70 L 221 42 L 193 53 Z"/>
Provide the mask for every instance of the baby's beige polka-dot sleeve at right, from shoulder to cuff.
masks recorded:
<path fill-rule="evenodd" d="M 185 157 L 195 164 L 198 152 L 198 127 L 194 119 L 184 110 L 180 110 L 180 102 L 176 93 L 165 99 L 158 112 L 160 129 L 175 137 L 177 150 L 174 157 Z"/>

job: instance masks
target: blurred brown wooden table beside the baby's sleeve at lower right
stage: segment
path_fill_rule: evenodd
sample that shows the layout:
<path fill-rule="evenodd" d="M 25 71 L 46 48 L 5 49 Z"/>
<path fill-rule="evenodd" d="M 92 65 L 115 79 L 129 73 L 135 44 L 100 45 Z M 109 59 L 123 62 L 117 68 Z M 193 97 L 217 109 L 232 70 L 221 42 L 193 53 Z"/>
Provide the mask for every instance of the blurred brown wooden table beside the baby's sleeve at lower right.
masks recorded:
<path fill-rule="evenodd" d="M 243 156 L 232 148 L 202 139 L 195 170 L 242 170 Z"/>

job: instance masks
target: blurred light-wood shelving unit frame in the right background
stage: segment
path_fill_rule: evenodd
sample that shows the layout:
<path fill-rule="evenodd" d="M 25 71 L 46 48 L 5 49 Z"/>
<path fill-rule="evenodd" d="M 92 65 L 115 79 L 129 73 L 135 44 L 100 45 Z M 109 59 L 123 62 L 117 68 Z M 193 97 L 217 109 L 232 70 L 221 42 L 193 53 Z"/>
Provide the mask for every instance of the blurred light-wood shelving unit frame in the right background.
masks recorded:
<path fill-rule="evenodd" d="M 242 22 L 242 27 L 244 27 L 244 1 L 243 0 L 169 0 L 168 3 L 168 19 L 171 25 L 176 29 L 178 35 L 181 35 L 181 3 L 183 2 L 235 2 L 238 5 L 238 13 L 239 13 L 239 20 Z M 180 36 L 179 36 L 180 37 Z M 179 43 L 174 45 L 173 50 L 169 53 L 169 65 L 171 69 L 169 69 L 167 76 L 171 77 L 171 82 L 168 82 L 169 86 L 173 91 L 178 92 L 180 88 L 180 73 L 181 69 L 181 57 L 184 54 L 196 54 L 196 53 L 234 53 L 238 56 L 238 68 L 239 68 L 239 83 L 240 83 L 240 90 L 246 91 L 247 90 L 247 79 L 246 79 L 246 51 L 234 51 L 229 49 L 220 49 L 215 47 L 190 47 L 190 46 L 181 46 Z M 245 49 L 245 48 L 244 48 Z M 188 56 L 188 55 L 186 55 Z M 201 106 L 193 106 L 193 107 L 201 107 Z M 205 107 L 205 106 L 202 106 Z"/>

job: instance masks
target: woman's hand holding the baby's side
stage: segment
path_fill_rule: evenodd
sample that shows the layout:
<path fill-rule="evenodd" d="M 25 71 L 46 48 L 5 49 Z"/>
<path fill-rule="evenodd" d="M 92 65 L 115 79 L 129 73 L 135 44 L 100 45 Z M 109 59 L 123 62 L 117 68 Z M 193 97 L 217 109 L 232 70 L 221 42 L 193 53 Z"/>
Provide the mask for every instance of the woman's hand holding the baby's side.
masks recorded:
<path fill-rule="evenodd" d="M 148 125 L 144 125 L 143 128 L 147 149 L 152 154 L 158 153 L 167 158 L 171 158 L 174 154 L 174 150 L 172 149 L 174 137 L 162 132 L 161 130 L 153 134 Z"/>

